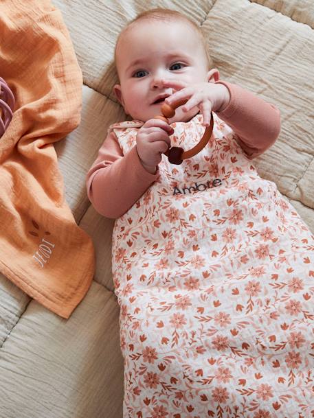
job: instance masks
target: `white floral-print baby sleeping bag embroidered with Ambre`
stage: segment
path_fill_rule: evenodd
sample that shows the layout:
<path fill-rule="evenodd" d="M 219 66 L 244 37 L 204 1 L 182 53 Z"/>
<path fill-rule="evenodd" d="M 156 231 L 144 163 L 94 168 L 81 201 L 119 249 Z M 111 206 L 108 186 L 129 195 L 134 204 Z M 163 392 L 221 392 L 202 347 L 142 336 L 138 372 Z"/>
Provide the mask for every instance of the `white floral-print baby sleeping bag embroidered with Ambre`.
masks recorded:
<path fill-rule="evenodd" d="M 124 153 L 140 125 L 112 126 Z M 159 172 L 113 231 L 124 418 L 314 417 L 313 235 L 216 115 Z"/>

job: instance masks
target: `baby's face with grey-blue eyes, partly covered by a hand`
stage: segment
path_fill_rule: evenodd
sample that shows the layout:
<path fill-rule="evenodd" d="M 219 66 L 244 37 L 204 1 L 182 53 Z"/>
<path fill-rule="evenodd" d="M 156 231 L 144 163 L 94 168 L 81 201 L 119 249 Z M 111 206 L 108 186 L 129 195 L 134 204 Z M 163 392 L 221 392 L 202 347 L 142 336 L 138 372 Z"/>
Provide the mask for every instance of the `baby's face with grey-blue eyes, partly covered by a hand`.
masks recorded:
<path fill-rule="evenodd" d="M 161 115 L 163 97 L 175 92 L 163 80 L 187 84 L 208 81 L 208 61 L 199 34 L 182 21 L 139 21 L 130 27 L 117 45 L 116 65 L 120 84 L 117 98 L 126 114 L 147 121 Z M 187 121 L 198 108 L 183 113 L 177 109 L 174 121 Z"/>

